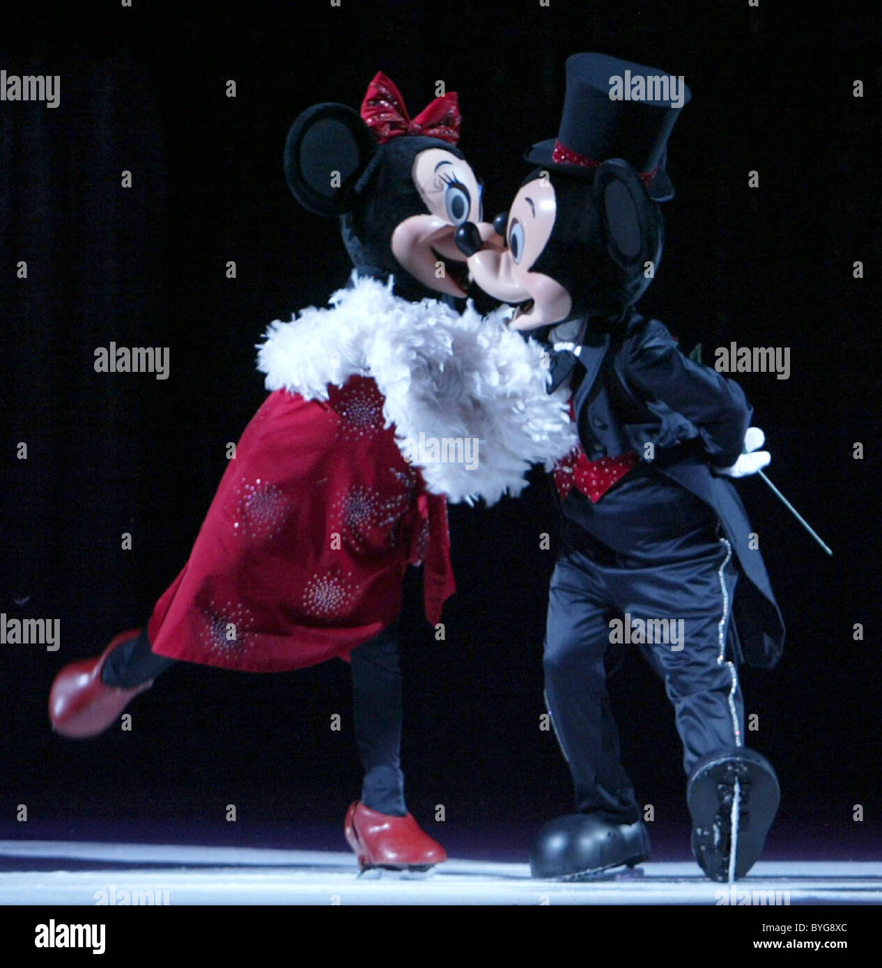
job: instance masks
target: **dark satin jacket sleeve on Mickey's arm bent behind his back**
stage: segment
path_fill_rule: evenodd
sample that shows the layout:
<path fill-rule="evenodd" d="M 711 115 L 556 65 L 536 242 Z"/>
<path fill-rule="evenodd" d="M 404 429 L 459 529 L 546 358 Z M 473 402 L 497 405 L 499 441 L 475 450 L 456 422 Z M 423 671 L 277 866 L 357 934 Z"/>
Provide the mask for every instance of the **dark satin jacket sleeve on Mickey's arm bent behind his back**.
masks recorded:
<path fill-rule="evenodd" d="M 629 385 L 647 402 L 667 405 L 697 428 L 711 464 L 726 468 L 738 460 L 753 414 L 744 391 L 690 360 L 664 323 L 650 319 L 629 337 L 625 371 Z"/>

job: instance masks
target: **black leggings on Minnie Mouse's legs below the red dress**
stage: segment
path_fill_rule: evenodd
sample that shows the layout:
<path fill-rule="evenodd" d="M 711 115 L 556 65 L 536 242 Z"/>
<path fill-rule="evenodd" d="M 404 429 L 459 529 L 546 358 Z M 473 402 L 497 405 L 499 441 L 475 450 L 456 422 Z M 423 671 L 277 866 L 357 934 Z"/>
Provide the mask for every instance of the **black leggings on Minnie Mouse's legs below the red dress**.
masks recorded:
<path fill-rule="evenodd" d="M 351 652 L 355 740 L 364 767 L 361 802 L 372 810 L 403 817 L 405 777 L 401 770 L 401 671 L 395 625 Z M 150 649 L 146 630 L 108 656 L 102 673 L 107 685 L 131 688 L 156 679 L 174 659 Z"/>

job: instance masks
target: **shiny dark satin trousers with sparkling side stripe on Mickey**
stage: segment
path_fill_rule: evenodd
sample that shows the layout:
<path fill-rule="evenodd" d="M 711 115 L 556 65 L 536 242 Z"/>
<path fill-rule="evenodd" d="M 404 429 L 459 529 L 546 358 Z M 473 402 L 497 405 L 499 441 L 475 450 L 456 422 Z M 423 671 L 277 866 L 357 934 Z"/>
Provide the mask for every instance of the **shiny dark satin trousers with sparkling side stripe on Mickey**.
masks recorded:
<path fill-rule="evenodd" d="M 668 557 L 653 563 L 616 553 L 597 560 L 582 551 L 558 560 L 548 605 L 545 692 L 577 811 L 615 823 L 640 819 L 620 761 L 604 665 L 607 650 L 634 646 L 611 644 L 611 620 L 622 622 L 615 633 L 621 628 L 632 642 L 650 635 L 660 640 L 638 648 L 665 681 L 686 772 L 707 753 L 742 745 L 744 705 L 725 649 L 736 579 L 729 543 L 715 531 L 688 547 L 669 547 Z M 646 622 L 642 635 L 639 620 Z"/>

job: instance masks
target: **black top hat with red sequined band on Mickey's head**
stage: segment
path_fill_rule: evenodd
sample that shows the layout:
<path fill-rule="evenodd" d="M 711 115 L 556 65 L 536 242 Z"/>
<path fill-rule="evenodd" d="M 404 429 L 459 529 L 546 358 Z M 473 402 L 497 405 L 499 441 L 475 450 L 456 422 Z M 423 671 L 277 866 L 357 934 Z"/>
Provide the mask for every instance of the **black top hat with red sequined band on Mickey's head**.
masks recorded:
<path fill-rule="evenodd" d="M 654 201 L 674 197 L 665 171 L 667 142 L 692 95 L 681 77 L 605 54 L 566 59 L 566 97 L 556 138 L 539 141 L 528 161 L 577 178 L 593 178 L 610 158 L 639 173 Z"/>

